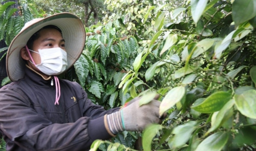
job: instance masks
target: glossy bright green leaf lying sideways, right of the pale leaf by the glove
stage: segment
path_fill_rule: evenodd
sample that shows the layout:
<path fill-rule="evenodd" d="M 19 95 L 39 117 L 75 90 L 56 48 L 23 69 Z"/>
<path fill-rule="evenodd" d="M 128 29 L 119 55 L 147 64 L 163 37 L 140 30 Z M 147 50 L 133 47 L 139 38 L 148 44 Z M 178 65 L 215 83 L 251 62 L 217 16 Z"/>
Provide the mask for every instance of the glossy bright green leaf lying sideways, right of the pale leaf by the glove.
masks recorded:
<path fill-rule="evenodd" d="M 195 109 L 201 113 L 212 113 L 219 111 L 228 101 L 230 101 L 232 95 L 228 92 L 215 92 L 212 95 L 208 96 L 204 102 L 197 106 L 191 106 L 192 109 Z"/>

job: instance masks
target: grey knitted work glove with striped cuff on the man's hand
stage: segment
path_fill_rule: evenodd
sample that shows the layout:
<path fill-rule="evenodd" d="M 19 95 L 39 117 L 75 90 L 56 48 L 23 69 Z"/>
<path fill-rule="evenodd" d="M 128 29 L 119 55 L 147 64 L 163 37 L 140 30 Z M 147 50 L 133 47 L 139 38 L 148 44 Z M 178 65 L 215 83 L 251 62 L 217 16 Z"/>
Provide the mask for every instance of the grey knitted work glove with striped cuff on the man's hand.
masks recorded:
<path fill-rule="evenodd" d="M 155 98 L 158 98 L 156 96 Z M 131 103 L 121 108 L 118 112 L 105 115 L 105 127 L 113 135 L 121 131 L 143 131 L 146 126 L 152 123 L 162 123 L 159 115 L 160 101 L 153 99 L 151 102 L 139 106 L 140 98 L 134 98 Z M 110 133 L 110 134 L 111 134 Z"/>

